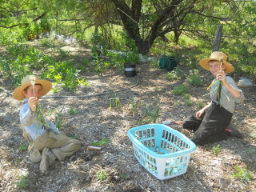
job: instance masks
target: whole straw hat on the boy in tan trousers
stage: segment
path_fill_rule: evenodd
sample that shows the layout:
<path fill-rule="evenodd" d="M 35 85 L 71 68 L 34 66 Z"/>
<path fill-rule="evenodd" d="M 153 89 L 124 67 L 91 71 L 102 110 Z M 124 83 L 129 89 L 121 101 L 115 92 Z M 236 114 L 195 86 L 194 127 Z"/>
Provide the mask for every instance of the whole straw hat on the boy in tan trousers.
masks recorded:
<path fill-rule="evenodd" d="M 31 86 L 31 82 L 35 82 L 35 84 L 42 85 L 42 96 L 46 95 L 50 89 L 51 89 L 51 82 L 47 80 L 41 80 L 35 75 L 28 75 L 26 78 L 22 78 L 22 85 L 18 86 L 16 90 L 14 90 L 13 98 L 17 100 L 23 100 L 24 95 L 22 94 L 22 91 L 26 89 L 27 86 Z"/>

